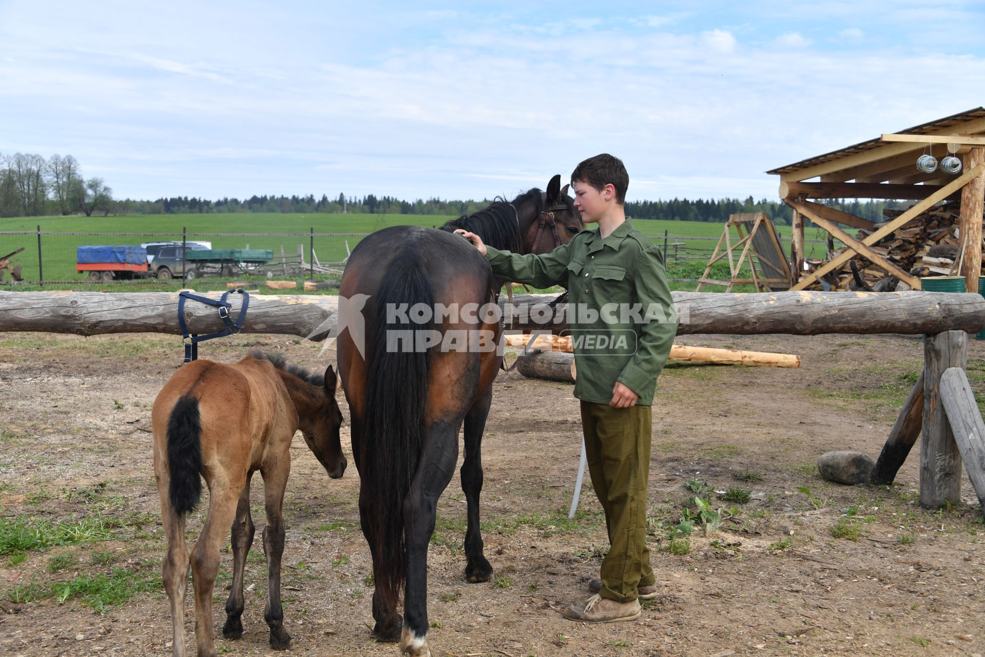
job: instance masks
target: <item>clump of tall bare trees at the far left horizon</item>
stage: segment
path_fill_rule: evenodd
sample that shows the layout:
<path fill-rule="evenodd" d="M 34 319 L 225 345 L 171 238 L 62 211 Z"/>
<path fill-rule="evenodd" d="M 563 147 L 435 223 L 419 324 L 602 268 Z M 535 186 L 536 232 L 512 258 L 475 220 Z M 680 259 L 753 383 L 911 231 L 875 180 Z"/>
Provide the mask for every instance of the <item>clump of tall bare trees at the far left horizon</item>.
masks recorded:
<path fill-rule="evenodd" d="M 115 211 L 102 178 L 82 176 L 72 156 L 0 153 L 0 217 L 40 217 Z"/>

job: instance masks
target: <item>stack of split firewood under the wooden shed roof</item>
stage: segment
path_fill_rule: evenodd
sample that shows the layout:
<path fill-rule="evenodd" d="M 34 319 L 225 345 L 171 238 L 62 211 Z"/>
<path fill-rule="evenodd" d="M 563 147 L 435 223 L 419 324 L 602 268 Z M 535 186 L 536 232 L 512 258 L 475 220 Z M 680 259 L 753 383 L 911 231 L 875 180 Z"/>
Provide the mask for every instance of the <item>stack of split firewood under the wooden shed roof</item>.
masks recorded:
<path fill-rule="evenodd" d="M 886 220 L 892 220 L 903 212 L 905 211 L 886 208 L 883 215 Z M 903 228 L 886 235 L 872 246 L 872 250 L 913 276 L 956 276 L 961 255 L 957 232 L 959 214 L 960 203 L 957 201 L 935 206 L 918 215 Z M 881 226 L 883 225 L 879 224 L 877 228 Z M 857 236 L 864 239 L 873 231 L 859 230 Z M 844 248 L 834 251 L 831 257 L 842 251 Z M 857 276 L 853 270 L 857 272 Z M 889 292 L 897 289 L 894 276 L 890 277 L 886 271 L 861 255 L 856 255 L 824 278 L 829 284 L 836 280 L 838 290 L 874 289 Z M 892 280 L 884 281 L 886 278 Z M 864 285 L 860 285 L 859 279 Z"/>

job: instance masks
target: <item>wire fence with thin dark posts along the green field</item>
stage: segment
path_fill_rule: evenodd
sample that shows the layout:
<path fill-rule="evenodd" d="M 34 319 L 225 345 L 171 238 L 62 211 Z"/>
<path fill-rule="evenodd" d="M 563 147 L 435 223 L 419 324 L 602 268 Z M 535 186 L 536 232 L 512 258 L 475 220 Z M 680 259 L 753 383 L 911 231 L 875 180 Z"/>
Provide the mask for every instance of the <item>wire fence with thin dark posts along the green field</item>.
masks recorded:
<path fill-rule="evenodd" d="M 337 280 L 345 267 L 346 259 L 353 248 L 368 232 L 59 232 L 47 230 L 0 231 L 0 263 L 8 253 L 21 250 L 10 258 L 10 268 L 0 269 L 0 281 L 9 283 L 12 280 L 11 269 L 20 267 L 19 275 L 24 282 L 30 284 L 72 283 L 99 284 L 129 283 L 140 284 L 157 282 L 163 272 L 154 264 L 154 256 L 146 272 L 132 275 L 114 273 L 94 276 L 92 267 L 80 267 L 77 261 L 77 249 L 80 246 L 93 245 L 141 245 L 141 244 L 185 244 L 189 246 L 207 246 L 217 254 L 214 260 L 204 260 L 204 265 L 190 268 L 185 263 L 186 270 L 194 269 L 194 277 L 210 277 L 217 279 L 237 279 L 243 277 L 262 278 L 294 278 L 314 281 Z M 668 265 L 687 264 L 697 265 L 707 262 L 714 252 L 719 237 L 691 235 L 648 235 L 660 247 Z M 786 253 L 790 252 L 789 240 L 783 244 Z M 263 262 L 255 259 L 250 262 L 239 262 L 234 257 L 219 258 L 222 255 L 232 255 L 230 250 L 263 250 L 269 252 L 269 258 Z M 153 250 L 153 249 L 152 249 Z M 180 253 L 181 249 L 176 249 Z M 823 257 L 827 246 L 824 240 L 805 240 L 807 257 Z M 196 256 L 196 262 L 203 262 Z M 159 261 L 160 264 L 160 261 Z M 689 268 L 692 269 L 692 268 Z M 180 271 L 168 272 L 173 278 L 183 278 Z M 189 276 L 188 278 L 191 278 Z M 691 280 L 691 279 L 680 279 Z M 696 280 L 694 278 L 693 280 Z"/>

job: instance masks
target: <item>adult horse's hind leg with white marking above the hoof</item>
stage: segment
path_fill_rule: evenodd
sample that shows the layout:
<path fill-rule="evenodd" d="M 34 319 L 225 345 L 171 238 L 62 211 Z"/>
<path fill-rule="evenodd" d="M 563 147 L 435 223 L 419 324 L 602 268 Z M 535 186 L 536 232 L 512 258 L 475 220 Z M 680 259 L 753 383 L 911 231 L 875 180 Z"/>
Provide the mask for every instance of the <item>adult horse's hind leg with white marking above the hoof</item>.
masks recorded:
<path fill-rule="evenodd" d="M 412 657 L 429 657 L 427 649 L 427 545 L 434 533 L 437 498 L 455 474 L 458 427 L 436 422 L 427 427 L 425 449 L 411 490 L 404 499 L 407 544 L 407 591 L 400 647 Z"/>

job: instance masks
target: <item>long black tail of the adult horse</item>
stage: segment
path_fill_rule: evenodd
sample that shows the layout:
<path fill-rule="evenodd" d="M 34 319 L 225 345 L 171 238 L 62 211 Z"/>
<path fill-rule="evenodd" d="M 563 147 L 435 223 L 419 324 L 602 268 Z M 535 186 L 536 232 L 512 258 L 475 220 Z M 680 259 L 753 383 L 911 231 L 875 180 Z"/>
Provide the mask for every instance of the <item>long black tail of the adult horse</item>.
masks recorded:
<path fill-rule="evenodd" d="M 417 346 L 434 327 L 434 290 L 419 251 L 405 246 L 397 253 L 376 301 L 366 345 L 361 504 L 371 525 L 376 581 L 399 596 L 406 575 L 404 498 L 421 456 L 427 403 L 428 353 Z M 411 309 L 419 303 L 427 305 L 427 321 L 415 321 Z"/>

